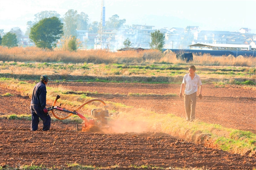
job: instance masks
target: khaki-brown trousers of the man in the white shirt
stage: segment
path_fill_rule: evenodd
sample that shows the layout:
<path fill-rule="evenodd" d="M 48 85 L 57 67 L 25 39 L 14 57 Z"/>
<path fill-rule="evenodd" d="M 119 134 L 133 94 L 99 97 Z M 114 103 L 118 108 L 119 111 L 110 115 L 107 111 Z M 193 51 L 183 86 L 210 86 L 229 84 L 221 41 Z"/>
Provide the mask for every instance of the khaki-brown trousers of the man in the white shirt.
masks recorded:
<path fill-rule="evenodd" d="M 184 104 L 186 110 L 186 120 L 193 121 L 195 119 L 196 92 L 190 95 L 184 95 Z"/>

